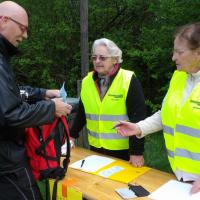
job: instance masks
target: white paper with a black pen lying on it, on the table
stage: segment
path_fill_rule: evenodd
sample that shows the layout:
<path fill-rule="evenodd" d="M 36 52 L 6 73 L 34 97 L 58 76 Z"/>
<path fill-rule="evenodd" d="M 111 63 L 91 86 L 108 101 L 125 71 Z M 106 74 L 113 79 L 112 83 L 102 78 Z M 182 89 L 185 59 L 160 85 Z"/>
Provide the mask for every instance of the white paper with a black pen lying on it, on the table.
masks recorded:
<path fill-rule="evenodd" d="M 85 160 L 83 166 L 81 167 L 82 161 Z M 82 160 L 72 163 L 69 167 L 74 169 L 80 169 L 86 172 L 96 172 L 97 170 L 109 165 L 114 162 L 114 159 L 107 158 L 104 156 L 92 155 L 87 156 Z"/>

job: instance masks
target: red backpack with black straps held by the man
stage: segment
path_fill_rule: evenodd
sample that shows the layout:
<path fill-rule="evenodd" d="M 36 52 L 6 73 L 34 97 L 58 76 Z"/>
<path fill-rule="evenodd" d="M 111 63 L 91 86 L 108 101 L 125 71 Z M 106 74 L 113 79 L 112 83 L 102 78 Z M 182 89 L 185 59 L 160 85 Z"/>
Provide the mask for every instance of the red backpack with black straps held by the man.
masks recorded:
<path fill-rule="evenodd" d="M 52 124 L 26 129 L 26 151 L 36 180 L 62 179 L 70 158 L 70 134 L 66 118 L 56 118 Z M 67 141 L 66 158 L 60 166 L 61 146 Z"/>

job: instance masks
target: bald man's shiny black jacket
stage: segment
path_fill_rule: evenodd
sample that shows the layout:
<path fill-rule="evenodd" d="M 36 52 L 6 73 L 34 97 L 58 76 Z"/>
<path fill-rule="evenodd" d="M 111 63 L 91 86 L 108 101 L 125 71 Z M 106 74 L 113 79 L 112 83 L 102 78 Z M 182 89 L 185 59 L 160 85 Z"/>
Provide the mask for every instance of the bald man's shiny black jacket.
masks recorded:
<path fill-rule="evenodd" d="M 10 58 L 16 53 L 16 47 L 0 35 L 0 174 L 23 166 L 26 160 L 25 128 L 51 123 L 55 113 L 54 102 L 42 100 L 44 89 L 23 87 L 29 94 L 28 99 L 38 102 L 23 101 L 9 65 Z"/>

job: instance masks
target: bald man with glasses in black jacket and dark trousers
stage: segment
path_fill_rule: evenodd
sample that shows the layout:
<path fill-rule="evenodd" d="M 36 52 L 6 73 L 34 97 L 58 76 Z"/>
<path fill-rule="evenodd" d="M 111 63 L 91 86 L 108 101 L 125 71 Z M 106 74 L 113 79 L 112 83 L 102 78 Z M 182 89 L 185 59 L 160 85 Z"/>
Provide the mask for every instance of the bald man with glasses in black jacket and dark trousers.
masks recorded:
<path fill-rule="evenodd" d="M 41 199 L 27 163 L 25 128 L 52 123 L 71 110 L 58 90 L 20 90 L 15 83 L 9 60 L 28 37 L 27 30 L 24 8 L 12 1 L 0 3 L 0 200 Z"/>

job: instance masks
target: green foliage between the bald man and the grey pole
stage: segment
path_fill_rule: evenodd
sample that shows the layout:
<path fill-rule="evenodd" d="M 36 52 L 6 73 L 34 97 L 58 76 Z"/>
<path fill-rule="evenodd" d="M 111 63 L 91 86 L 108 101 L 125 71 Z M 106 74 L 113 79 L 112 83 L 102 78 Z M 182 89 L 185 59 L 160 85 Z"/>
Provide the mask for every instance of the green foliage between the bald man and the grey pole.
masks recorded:
<path fill-rule="evenodd" d="M 80 77 L 79 4 L 62 0 L 18 3 L 30 16 L 29 38 L 20 46 L 22 55 L 13 60 L 18 82 L 58 88 L 65 81 L 69 95 L 75 96 Z"/>

